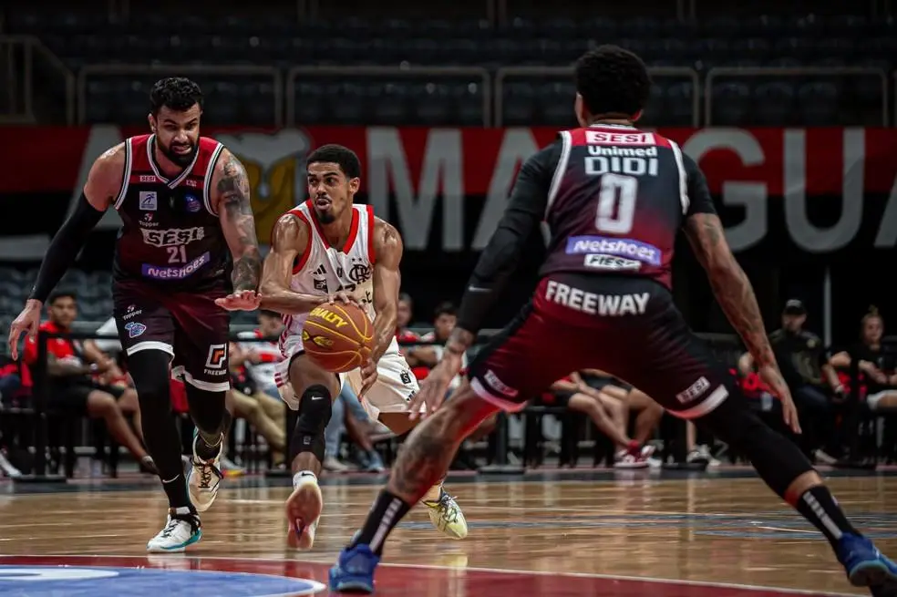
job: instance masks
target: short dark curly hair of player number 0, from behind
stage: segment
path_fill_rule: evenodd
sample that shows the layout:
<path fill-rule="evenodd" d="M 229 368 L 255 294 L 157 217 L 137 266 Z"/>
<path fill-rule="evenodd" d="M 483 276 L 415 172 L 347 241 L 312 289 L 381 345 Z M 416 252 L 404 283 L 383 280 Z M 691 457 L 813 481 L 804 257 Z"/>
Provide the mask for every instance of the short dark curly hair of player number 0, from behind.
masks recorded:
<path fill-rule="evenodd" d="M 576 61 L 576 91 L 593 116 L 633 117 L 651 94 L 644 62 L 620 46 L 598 46 Z"/>

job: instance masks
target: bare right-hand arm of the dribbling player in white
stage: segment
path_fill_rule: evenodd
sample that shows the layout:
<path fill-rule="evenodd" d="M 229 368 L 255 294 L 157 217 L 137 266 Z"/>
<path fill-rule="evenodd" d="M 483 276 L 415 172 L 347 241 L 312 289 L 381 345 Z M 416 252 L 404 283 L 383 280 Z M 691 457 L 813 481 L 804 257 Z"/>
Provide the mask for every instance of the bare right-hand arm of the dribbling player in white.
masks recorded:
<path fill-rule="evenodd" d="M 391 224 L 374 221 L 374 353 L 376 363 L 387 351 L 396 335 L 398 289 L 402 283 L 399 264 L 402 262 L 402 237 Z"/>

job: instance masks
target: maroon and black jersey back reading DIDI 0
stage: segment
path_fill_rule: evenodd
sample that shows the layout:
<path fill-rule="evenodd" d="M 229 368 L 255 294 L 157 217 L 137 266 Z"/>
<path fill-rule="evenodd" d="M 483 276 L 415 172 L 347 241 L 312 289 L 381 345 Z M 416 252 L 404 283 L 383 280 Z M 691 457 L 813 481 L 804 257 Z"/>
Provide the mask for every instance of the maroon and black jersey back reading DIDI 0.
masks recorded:
<path fill-rule="evenodd" d="M 565 130 L 561 141 L 541 274 L 629 274 L 669 288 L 675 237 L 689 211 L 679 147 L 621 126 Z"/>

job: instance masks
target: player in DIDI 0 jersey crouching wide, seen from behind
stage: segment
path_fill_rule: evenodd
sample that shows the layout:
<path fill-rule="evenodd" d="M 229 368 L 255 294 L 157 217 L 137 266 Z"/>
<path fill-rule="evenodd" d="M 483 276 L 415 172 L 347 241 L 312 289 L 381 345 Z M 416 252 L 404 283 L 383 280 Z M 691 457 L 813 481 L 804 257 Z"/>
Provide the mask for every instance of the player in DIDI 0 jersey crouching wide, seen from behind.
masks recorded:
<path fill-rule="evenodd" d="M 331 569 L 331 589 L 373 592 L 389 531 L 480 421 L 498 409 L 520 410 L 572 370 L 599 368 L 747 455 L 769 488 L 830 540 L 851 583 L 894 595 L 897 566 L 851 526 L 799 448 L 748 409 L 673 304 L 670 273 L 682 229 L 760 376 L 781 400 L 786 424 L 799 432 L 757 299 L 729 250 L 704 174 L 675 142 L 634 128 L 651 88 L 644 63 L 601 46 L 580 58 L 575 77 L 581 128 L 562 131 L 521 168 L 445 353 L 409 407 L 411 417 L 421 404 L 436 412 L 405 443 L 387 488 Z M 530 304 L 479 352 L 469 381 L 443 406 L 461 355 L 543 219 L 552 241 Z"/>

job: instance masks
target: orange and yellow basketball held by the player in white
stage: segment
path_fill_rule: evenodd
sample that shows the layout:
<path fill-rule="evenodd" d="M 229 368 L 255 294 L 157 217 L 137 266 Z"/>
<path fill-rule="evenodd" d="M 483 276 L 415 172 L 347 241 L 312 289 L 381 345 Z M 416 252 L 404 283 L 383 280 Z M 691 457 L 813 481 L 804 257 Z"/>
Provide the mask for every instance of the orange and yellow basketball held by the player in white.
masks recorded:
<path fill-rule="evenodd" d="M 321 368 L 345 373 L 360 367 L 374 348 L 374 325 L 355 304 L 314 307 L 302 329 L 305 354 Z"/>

